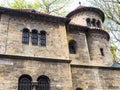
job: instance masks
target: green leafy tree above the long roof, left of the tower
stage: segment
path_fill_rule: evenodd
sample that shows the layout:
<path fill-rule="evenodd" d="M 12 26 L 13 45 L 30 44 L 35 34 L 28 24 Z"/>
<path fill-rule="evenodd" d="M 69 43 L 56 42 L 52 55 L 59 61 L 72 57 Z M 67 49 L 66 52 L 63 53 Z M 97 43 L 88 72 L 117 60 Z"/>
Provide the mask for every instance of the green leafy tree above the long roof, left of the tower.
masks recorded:
<path fill-rule="evenodd" d="M 65 15 L 71 0 L 5 0 L 1 6 L 14 9 L 34 9 L 53 15 Z"/>

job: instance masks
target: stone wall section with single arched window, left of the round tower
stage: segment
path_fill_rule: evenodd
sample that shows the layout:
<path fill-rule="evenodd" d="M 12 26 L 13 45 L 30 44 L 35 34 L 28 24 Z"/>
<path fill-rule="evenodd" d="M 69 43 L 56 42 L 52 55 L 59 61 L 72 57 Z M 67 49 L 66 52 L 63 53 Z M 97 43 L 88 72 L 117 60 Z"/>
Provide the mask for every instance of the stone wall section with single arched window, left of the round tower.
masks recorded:
<path fill-rule="evenodd" d="M 75 40 L 77 43 L 76 54 L 69 54 L 72 60 L 71 64 L 88 65 L 90 58 L 84 30 L 70 29 L 67 31 L 67 38 L 68 43 L 70 40 Z"/>

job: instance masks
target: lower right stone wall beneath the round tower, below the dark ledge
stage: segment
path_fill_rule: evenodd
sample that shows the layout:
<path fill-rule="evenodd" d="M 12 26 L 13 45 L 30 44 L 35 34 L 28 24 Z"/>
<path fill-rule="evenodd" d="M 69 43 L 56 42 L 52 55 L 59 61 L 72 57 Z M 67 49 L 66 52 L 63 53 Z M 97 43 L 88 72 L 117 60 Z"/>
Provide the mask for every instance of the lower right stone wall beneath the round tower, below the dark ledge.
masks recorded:
<path fill-rule="evenodd" d="M 120 69 L 72 66 L 73 90 L 120 90 Z"/>

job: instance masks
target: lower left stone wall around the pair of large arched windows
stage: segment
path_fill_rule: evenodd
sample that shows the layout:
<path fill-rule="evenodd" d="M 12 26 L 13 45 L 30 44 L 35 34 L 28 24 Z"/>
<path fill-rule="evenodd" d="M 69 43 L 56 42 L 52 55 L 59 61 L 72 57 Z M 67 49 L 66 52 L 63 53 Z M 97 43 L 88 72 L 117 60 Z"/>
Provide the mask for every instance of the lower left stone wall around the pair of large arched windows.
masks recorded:
<path fill-rule="evenodd" d="M 16 59 L 7 59 L 0 56 L 0 90 L 18 90 L 18 79 L 24 74 L 30 75 L 34 82 L 41 75 L 47 76 L 50 79 L 50 90 L 72 90 L 71 69 L 68 62 L 20 58 L 17 56 Z"/>

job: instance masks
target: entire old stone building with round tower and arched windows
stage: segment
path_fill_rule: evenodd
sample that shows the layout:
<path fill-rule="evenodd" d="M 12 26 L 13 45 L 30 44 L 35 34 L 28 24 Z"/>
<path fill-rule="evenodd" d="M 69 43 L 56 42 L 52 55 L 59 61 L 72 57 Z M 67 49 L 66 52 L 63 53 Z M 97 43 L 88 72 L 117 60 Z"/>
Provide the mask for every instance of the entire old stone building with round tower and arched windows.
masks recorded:
<path fill-rule="evenodd" d="M 0 7 L 0 90 L 120 90 L 104 13 L 66 17 Z"/>

